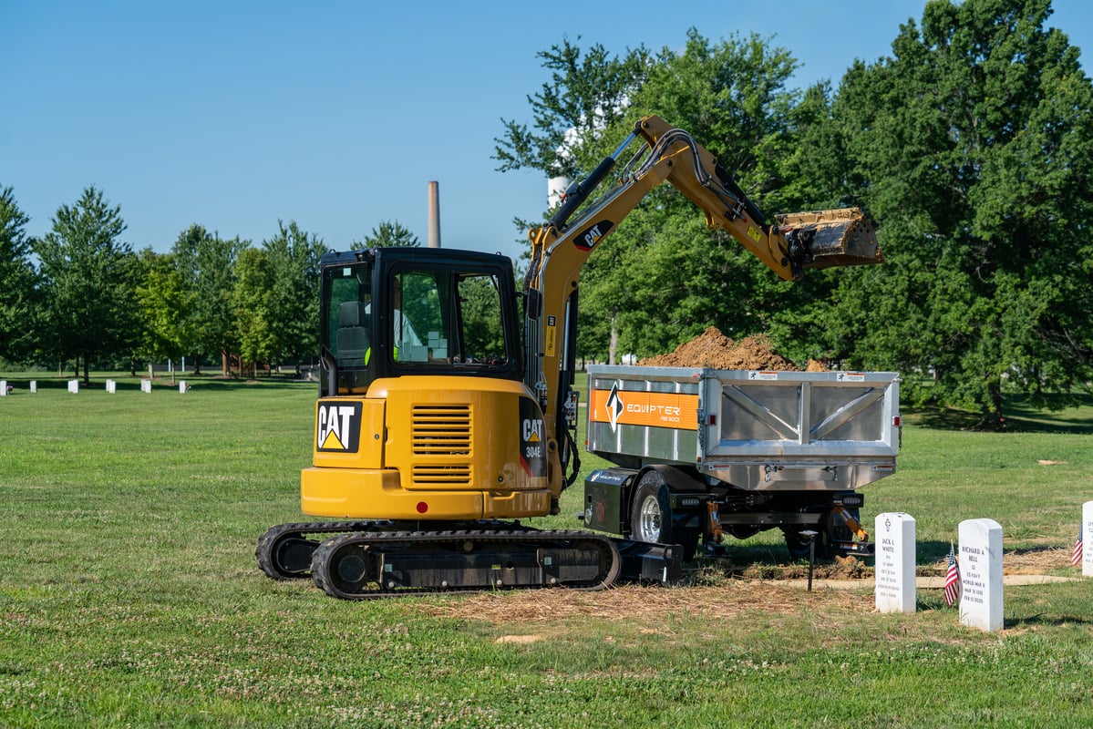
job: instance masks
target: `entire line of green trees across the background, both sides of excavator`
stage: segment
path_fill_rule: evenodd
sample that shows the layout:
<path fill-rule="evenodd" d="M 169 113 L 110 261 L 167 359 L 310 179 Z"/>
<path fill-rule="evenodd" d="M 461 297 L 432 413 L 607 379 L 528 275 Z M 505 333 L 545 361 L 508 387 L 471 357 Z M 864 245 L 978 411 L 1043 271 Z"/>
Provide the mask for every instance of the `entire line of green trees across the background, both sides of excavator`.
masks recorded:
<path fill-rule="evenodd" d="M 930 0 L 892 55 L 837 86 L 789 85 L 798 61 L 759 36 L 612 55 L 568 40 L 503 120 L 501 172 L 581 177 L 657 114 L 709 149 L 767 214 L 843 205 L 879 226 L 886 263 L 776 280 L 689 201 L 658 188 L 581 274 L 578 356 L 670 351 L 713 325 L 769 334 L 790 358 L 904 373 L 912 404 L 982 413 L 1065 404 L 1093 381 L 1093 84 L 1047 27 L 1050 0 Z M 260 245 L 200 225 L 133 252 L 95 188 L 40 239 L 0 188 L 0 357 L 315 356 L 321 239 L 295 223 Z M 525 223 L 526 227 L 538 223 Z M 385 223 L 363 245 L 416 245 Z"/>

